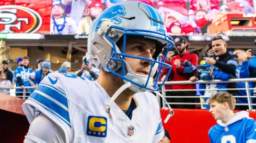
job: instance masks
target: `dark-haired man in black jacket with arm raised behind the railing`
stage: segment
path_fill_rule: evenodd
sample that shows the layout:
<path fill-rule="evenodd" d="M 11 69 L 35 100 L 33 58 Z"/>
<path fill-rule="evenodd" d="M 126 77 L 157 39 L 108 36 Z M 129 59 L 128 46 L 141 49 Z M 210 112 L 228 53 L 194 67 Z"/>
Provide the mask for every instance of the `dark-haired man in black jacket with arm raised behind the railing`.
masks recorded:
<path fill-rule="evenodd" d="M 237 55 L 231 55 L 227 50 L 227 43 L 222 36 L 217 36 L 212 40 L 213 54 L 204 57 L 207 64 L 213 64 L 219 71 L 230 75 L 231 79 L 236 79 Z M 198 76 L 197 76 L 198 78 Z M 236 83 L 229 83 L 228 88 L 237 88 Z M 237 95 L 236 90 L 228 90 L 233 96 Z"/>

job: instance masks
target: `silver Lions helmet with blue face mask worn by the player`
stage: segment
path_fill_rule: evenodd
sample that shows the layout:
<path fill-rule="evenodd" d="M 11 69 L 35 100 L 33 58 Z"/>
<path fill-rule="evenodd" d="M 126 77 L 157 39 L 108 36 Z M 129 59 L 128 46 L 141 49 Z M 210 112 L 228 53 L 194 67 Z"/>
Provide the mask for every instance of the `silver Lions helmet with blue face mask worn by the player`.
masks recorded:
<path fill-rule="evenodd" d="M 153 59 L 127 55 L 125 45 L 128 35 L 151 38 L 161 46 L 156 46 Z M 117 46 L 121 38 L 124 45 L 122 51 L 121 47 Z M 162 60 L 165 61 L 173 46 L 173 39 L 167 35 L 164 20 L 156 9 L 138 1 L 124 1 L 107 8 L 93 21 L 88 36 L 86 59 L 97 68 L 102 67 L 104 71 L 120 77 L 125 83 L 131 82 L 129 88 L 134 92 L 158 91 L 171 71 L 169 64 L 160 61 L 159 54 L 164 47 L 167 48 Z M 125 57 L 148 61 L 151 64 L 149 74 L 134 73 L 125 62 Z M 120 69 L 122 74 L 117 73 Z M 157 85 L 162 69 L 168 69 L 168 74 L 164 82 Z"/>

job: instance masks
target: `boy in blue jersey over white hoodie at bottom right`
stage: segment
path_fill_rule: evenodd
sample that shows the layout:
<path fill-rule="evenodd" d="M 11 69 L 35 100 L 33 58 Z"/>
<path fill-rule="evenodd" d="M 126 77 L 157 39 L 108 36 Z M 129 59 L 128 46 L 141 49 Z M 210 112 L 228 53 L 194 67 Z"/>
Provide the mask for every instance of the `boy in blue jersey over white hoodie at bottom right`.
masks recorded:
<path fill-rule="evenodd" d="M 249 118 L 249 113 L 241 111 L 234 113 L 236 99 L 227 92 L 218 92 L 210 98 L 210 112 L 217 124 L 210 128 L 210 141 L 230 143 L 256 142 L 255 120 Z"/>

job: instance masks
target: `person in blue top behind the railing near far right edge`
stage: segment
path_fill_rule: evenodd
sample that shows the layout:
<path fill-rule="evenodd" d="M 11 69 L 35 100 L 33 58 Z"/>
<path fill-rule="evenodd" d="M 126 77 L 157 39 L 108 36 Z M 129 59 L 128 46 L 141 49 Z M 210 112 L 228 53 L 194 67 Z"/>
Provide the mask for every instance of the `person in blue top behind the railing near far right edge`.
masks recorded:
<path fill-rule="evenodd" d="M 235 49 L 234 54 L 238 56 L 238 66 L 236 70 L 237 79 L 250 78 L 249 64 L 248 61 L 252 58 L 251 49 L 245 51 L 242 49 Z M 248 82 L 249 88 L 252 88 L 252 82 Z M 238 82 L 237 88 L 246 88 L 245 82 Z M 253 90 L 250 90 L 252 96 Z M 246 90 L 238 90 L 238 96 L 247 96 Z M 251 98 L 252 102 L 254 98 Z M 238 103 L 248 103 L 247 98 L 237 98 Z M 248 106 L 238 106 L 240 110 L 247 110 Z"/>

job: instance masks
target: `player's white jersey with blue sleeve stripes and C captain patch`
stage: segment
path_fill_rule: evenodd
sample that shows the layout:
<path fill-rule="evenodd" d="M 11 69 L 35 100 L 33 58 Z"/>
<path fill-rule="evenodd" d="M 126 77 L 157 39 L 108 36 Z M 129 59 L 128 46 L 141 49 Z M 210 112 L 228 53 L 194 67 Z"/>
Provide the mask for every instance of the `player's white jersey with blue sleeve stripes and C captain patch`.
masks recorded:
<path fill-rule="evenodd" d="M 29 123 L 42 112 L 64 133 L 67 142 L 158 142 L 164 129 L 156 97 L 136 93 L 132 119 L 97 83 L 73 74 L 50 73 L 22 105 Z"/>

